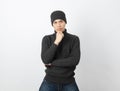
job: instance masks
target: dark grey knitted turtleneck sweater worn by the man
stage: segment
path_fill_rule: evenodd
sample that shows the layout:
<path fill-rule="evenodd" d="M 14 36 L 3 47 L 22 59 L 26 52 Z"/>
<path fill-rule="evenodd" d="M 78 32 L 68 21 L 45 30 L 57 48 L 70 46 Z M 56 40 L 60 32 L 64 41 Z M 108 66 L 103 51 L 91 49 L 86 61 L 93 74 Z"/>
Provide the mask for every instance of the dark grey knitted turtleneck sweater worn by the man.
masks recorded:
<path fill-rule="evenodd" d="M 54 44 L 56 32 L 46 35 L 42 40 L 41 58 L 46 67 L 45 79 L 55 83 L 74 82 L 74 70 L 80 60 L 80 41 L 76 35 L 64 31 L 64 38 L 57 46 Z"/>

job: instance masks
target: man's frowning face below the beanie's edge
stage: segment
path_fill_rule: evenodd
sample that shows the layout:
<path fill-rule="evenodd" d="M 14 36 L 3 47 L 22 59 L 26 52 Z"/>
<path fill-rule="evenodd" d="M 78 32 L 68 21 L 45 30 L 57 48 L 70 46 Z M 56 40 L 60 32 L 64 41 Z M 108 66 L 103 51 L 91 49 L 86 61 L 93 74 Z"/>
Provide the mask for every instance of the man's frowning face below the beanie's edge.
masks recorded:
<path fill-rule="evenodd" d="M 65 21 L 62 20 L 62 19 L 56 19 L 53 22 L 53 28 L 54 28 L 54 30 L 56 32 L 58 32 L 58 31 L 61 31 L 61 32 L 65 31 L 65 25 L 66 25 Z"/>

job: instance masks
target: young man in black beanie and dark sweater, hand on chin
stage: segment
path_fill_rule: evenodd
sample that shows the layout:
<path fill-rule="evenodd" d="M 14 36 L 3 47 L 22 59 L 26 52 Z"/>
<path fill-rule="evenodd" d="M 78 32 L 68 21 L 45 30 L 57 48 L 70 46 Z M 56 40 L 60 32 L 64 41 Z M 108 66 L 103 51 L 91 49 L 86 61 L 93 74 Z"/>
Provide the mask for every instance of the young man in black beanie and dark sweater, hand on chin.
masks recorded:
<path fill-rule="evenodd" d="M 69 34 L 63 11 L 51 14 L 54 33 L 42 40 L 41 58 L 46 66 L 46 76 L 39 91 L 79 91 L 74 78 L 74 70 L 80 60 L 80 41 Z"/>

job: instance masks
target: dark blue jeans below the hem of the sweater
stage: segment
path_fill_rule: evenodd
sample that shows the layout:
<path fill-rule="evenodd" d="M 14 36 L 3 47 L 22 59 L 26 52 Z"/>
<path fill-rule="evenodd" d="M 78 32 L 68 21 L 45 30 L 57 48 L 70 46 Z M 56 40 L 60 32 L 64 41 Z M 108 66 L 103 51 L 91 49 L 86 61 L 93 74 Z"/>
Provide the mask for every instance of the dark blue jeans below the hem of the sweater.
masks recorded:
<path fill-rule="evenodd" d="M 56 84 L 43 80 L 39 91 L 79 91 L 76 82 L 70 84 Z"/>

